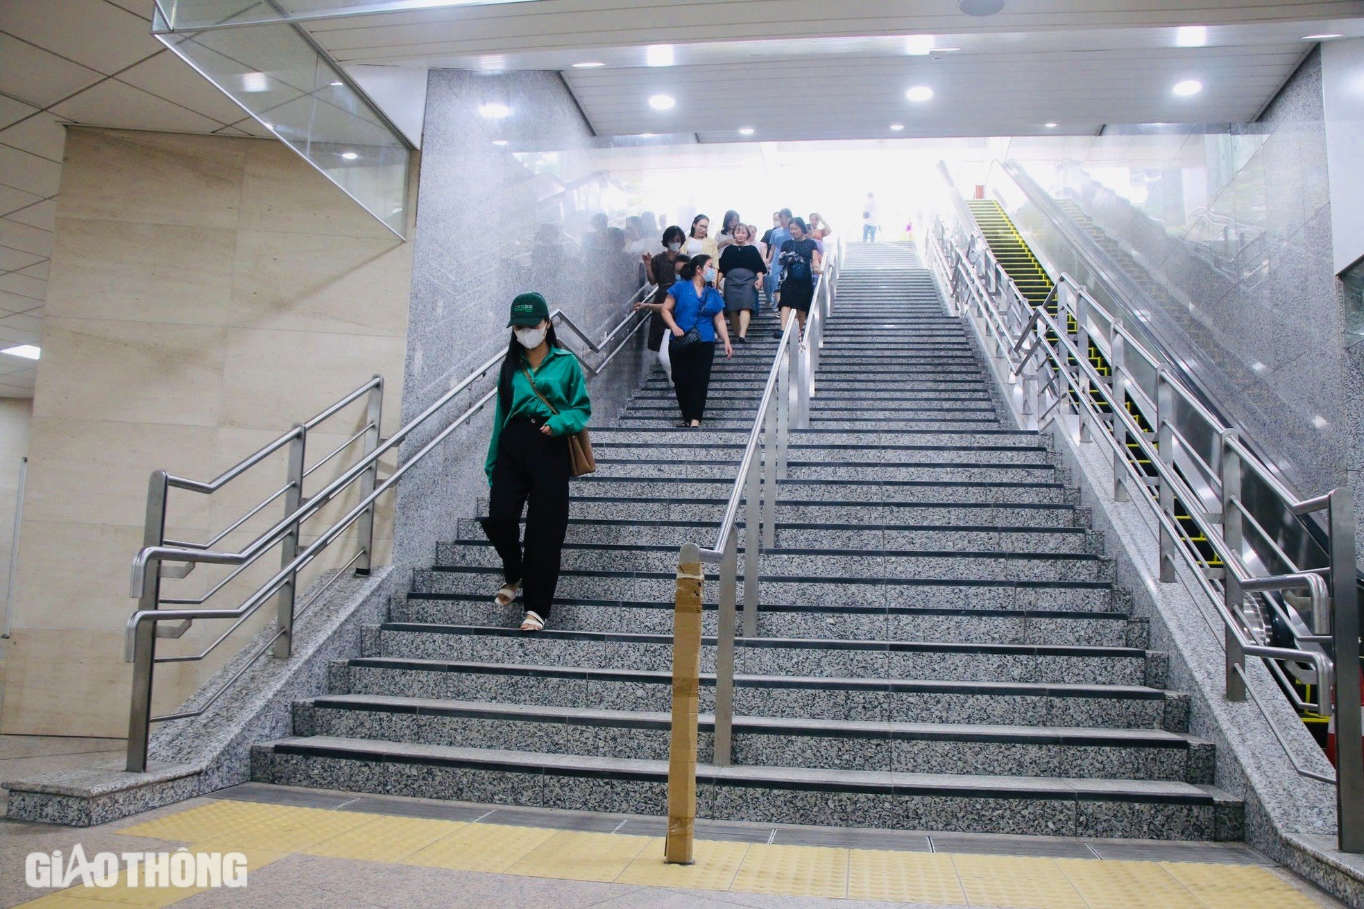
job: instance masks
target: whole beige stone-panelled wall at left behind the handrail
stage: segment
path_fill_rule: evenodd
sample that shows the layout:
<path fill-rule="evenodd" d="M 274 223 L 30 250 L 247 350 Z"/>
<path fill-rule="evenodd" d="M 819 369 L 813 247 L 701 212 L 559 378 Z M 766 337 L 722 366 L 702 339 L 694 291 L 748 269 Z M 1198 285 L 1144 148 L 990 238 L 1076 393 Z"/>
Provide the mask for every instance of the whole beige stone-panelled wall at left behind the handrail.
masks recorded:
<path fill-rule="evenodd" d="M 209 480 L 375 372 L 389 380 L 391 432 L 409 278 L 411 244 L 278 142 L 70 129 L 3 732 L 124 735 L 128 567 L 149 473 Z M 308 463 L 356 425 L 352 410 L 327 427 Z M 180 493 L 169 533 L 205 541 L 282 478 L 276 457 L 211 503 Z M 220 546 L 240 548 L 280 514 L 269 508 Z M 263 563 L 277 568 L 278 556 Z M 214 605 L 240 602 L 235 593 L 273 574 L 263 563 Z M 222 576 L 199 570 L 164 593 L 198 596 Z M 198 650 L 224 630 L 201 626 L 158 653 Z M 209 661 L 162 666 L 157 710 L 235 649 L 229 641 Z"/>

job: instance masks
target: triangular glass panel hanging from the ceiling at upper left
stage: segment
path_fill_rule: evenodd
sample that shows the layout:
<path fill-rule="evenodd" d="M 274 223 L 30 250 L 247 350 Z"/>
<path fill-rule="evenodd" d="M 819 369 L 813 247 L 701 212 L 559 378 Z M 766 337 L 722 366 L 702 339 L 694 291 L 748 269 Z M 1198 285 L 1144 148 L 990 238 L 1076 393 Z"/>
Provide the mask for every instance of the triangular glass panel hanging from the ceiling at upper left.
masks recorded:
<path fill-rule="evenodd" d="M 216 0 L 217 5 L 233 5 Z M 241 0 L 235 4 L 247 5 Z M 160 19 L 155 26 L 164 26 Z M 400 237 L 411 150 L 288 23 L 157 37 Z"/>

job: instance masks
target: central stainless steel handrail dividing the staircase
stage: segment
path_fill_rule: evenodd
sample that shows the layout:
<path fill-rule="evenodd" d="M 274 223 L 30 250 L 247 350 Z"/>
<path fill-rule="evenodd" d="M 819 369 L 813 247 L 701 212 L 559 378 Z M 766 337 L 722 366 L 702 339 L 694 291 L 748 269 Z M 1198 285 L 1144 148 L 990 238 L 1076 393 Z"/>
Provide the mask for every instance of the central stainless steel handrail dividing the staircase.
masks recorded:
<path fill-rule="evenodd" d="M 829 318 L 837 293 L 837 277 L 843 262 L 844 244 L 842 237 L 825 243 L 824 274 L 814 286 L 814 300 L 806 319 L 805 337 L 801 338 L 795 315 L 787 323 L 777 342 L 768 371 L 762 395 L 758 399 L 753 428 L 749 431 L 734 487 L 724 506 L 724 515 L 716 527 L 715 541 L 709 548 L 686 542 L 678 553 L 678 571 L 694 563 L 719 564 L 719 624 L 716 630 L 715 668 L 715 736 L 712 762 L 728 766 L 732 759 L 734 725 L 734 647 L 737 635 L 738 605 L 738 519 L 743 508 L 743 636 L 758 636 L 758 556 L 764 549 L 776 546 L 776 493 L 779 481 L 786 478 L 790 457 L 790 431 L 809 428 L 810 398 L 814 395 L 814 372 L 818 368 L 820 346 L 824 339 L 824 323 Z M 797 343 L 799 341 L 799 348 Z M 683 604 L 678 604 L 681 608 Z M 700 626 L 697 626 L 700 627 Z M 697 647 L 700 641 L 693 642 Z M 679 684 L 679 666 L 672 666 L 674 687 Z M 679 730 L 694 736 L 696 730 Z M 668 788 L 681 790 L 687 786 L 694 793 L 696 765 L 685 773 L 687 781 L 674 777 L 677 767 L 670 767 Z M 687 853 L 690 850 L 687 849 Z"/>

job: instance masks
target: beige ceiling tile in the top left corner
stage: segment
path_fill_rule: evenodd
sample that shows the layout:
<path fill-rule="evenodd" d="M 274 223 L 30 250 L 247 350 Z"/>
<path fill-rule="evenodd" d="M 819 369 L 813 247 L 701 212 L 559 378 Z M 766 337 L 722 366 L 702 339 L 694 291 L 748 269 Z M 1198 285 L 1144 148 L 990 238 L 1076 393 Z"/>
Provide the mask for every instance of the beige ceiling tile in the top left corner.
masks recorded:
<path fill-rule="evenodd" d="M 146 19 L 105 0 L 0 3 L 0 31 L 105 75 L 161 49 Z"/>

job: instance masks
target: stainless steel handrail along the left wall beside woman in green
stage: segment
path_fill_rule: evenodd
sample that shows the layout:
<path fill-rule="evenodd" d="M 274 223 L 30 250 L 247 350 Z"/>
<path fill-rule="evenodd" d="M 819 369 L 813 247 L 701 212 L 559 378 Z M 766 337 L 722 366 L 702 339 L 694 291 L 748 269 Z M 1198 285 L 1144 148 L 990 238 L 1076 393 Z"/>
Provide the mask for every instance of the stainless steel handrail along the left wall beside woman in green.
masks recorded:
<path fill-rule="evenodd" d="M 630 307 L 630 304 L 638 300 L 641 294 L 645 294 L 652 289 L 653 286 L 649 283 L 641 286 L 626 301 L 626 307 Z M 577 334 L 592 352 L 606 352 L 606 356 L 600 357 L 597 363 L 588 363 L 582 358 L 582 356 L 574 352 L 574 356 L 577 356 L 577 358 L 582 363 L 584 369 L 593 376 L 600 375 L 602 371 L 606 369 L 606 367 L 617 357 L 617 354 L 621 353 L 621 350 L 625 349 L 630 339 L 638 334 L 640 328 L 645 324 L 644 313 L 638 313 L 632 309 L 627 316 L 621 319 L 606 334 L 606 337 L 597 342 L 574 324 L 562 309 L 555 309 L 550 318 L 557 324 L 563 324 L 570 331 Z M 499 363 L 502 363 L 503 357 L 505 353 L 502 352 L 488 357 L 484 363 L 475 368 L 473 372 L 457 382 L 436 401 L 428 405 L 420 414 L 413 417 L 408 424 L 401 427 L 387 439 L 379 437 L 383 418 L 383 379 L 382 376 L 374 376 L 370 382 L 329 405 L 306 422 L 295 424 L 292 429 L 247 455 L 210 481 L 196 481 L 186 477 L 177 477 L 164 470 L 157 470 L 151 474 L 150 491 L 147 496 L 147 522 L 143 534 L 145 545 L 132 560 L 131 596 L 138 598 L 139 608 L 128 617 L 125 631 L 124 660 L 134 664 L 127 752 L 127 769 L 130 771 L 140 773 L 146 770 L 147 741 L 153 722 L 183 720 L 203 714 L 209 706 L 211 706 L 228 688 L 231 688 L 232 684 L 236 683 L 237 679 L 241 677 L 241 675 L 251 665 L 254 665 L 256 658 L 271 647 L 274 649 L 276 657 L 284 658 L 289 656 L 292 650 L 292 630 L 295 621 L 303 615 L 308 605 L 315 602 L 318 596 L 321 596 L 319 591 L 301 608 L 295 608 L 295 589 L 297 587 L 299 572 L 352 525 L 359 525 L 357 551 L 355 556 L 352 556 L 341 567 L 337 575 L 326 583 L 333 583 L 337 576 L 341 576 L 341 574 L 351 567 L 355 567 L 357 574 L 368 574 L 374 549 L 374 510 L 378 499 L 389 489 L 394 488 L 398 480 L 401 480 L 408 470 L 426 458 L 426 455 L 449 437 L 451 432 L 473 418 L 473 416 L 476 416 L 494 398 L 496 388 L 494 387 L 492 390 L 480 394 L 462 413 L 456 416 L 419 451 L 416 451 L 412 457 L 405 458 L 402 463 L 397 466 L 394 472 L 382 482 L 378 481 L 381 458 L 389 451 L 396 450 L 415 431 L 426 425 L 427 421 L 441 413 L 451 401 L 469 390 L 473 383 L 484 378 Z M 342 413 L 352 403 L 361 399 L 366 401 L 367 406 L 364 422 L 359 432 L 351 435 L 340 447 L 334 448 L 311 467 L 307 467 L 304 465 L 304 455 L 310 429 L 319 427 L 327 420 Z M 364 440 L 364 454 L 359 461 L 349 465 L 338 477 L 331 480 L 331 482 L 321 491 L 310 496 L 303 495 L 306 477 L 361 439 Z M 218 489 L 222 489 L 226 484 L 246 474 L 251 467 L 262 463 L 270 455 L 285 448 L 288 448 L 288 478 L 285 485 L 271 493 L 267 499 L 265 499 L 265 502 L 250 508 L 246 515 L 232 522 L 228 530 L 216 534 L 207 544 L 173 541 L 165 537 L 166 504 L 170 489 L 187 489 L 202 495 L 213 495 Z M 303 523 L 315 517 L 327 503 L 356 482 L 359 482 L 359 504 L 349 508 L 345 515 L 323 529 L 311 545 L 300 546 L 300 531 Z M 232 530 L 240 527 L 243 523 L 259 514 L 265 507 L 277 502 L 281 496 L 285 499 L 284 517 L 269 529 L 259 533 L 251 542 L 239 551 L 218 551 L 213 548 Z M 202 608 L 202 604 L 207 602 L 232 579 L 276 546 L 281 546 L 280 570 L 269 581 L 256 587 L 251 596 L 248 596 L 239 605 L 231 608 Z M 183 564 L 184 568 L 172 568 L 168 563 Z M 229 572 L 222 581 L 211 586 L 199 597 L 161 597 L 161 579 L 164 576 L 187 576 L 194 566 L 201 563 L 235 566 L 236 570 Z M 155 664 L 191 662 L 206 658 L 214 649 L 231 638 L 232 634 L 250 616 L 252 616 L 261 605 L 263 605 L 270 597 L 276 596 L 278 597 L 277 630 L 274 635 L 265 642 L 265 645 L 258 647 L 254 654 L 243 660 L 237 671 L 220 684 L 210 695 L 207 695 L 195 709 L 164 715 L 151 715 L 151 688 Z M 165 609 L 162 608 L 164 605 L 184 605 L 192 608 Z M 229 619 L 235 621 L 225 632 L 218 635 L 207 647 L 198 653 L 179 654 L 173 657 L 155 656 L 157 638 L 179 638 L 190 628 L 192 621 L 199 619 Z M 179 624 L 170 627 L 168 623 Z"/>

